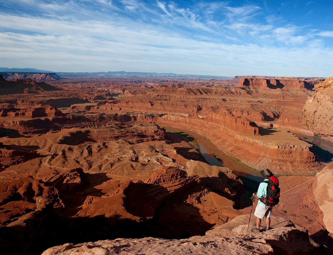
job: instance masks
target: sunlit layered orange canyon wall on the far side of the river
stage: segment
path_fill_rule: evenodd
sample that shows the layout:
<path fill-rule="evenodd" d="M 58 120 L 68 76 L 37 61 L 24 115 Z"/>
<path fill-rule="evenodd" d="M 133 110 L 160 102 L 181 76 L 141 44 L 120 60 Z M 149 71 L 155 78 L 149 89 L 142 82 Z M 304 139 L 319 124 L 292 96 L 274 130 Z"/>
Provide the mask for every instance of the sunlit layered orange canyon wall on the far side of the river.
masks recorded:
<path fill-rule="evenodd" d="M 136 116 L 134 121 L 177 126 L 204 135 L 219 149 L 251 167 L 269 166 L 277 174 L 311 174 L 323 167 L 316 162 L 312 145 L 300 144 L 295 136 L 287 132 L 277 136 L 270 135 L 276 132 L 274 130 L 263 130 L 261 134 L 260 126 L 313 134 L 301 123 L 302 105 L 311 94 L 308 84 L 292 79 L 281 81 L 244 78 L 236 88 L 167 86 L 148 92 L 146 100 L 139 94 L 131 95 L 98 103 L 90 107 L 89 112 L 129 114 Z M 236 95 L 237 99 L 232 99 Z M 256 98 L 265 100 L 256 101 Z M 252 137 L 260 135 L 263 139 Z M 263 155 L 263 152 L 266 154 Z M 258 158 L 260 163 L 256 162 Z"/>

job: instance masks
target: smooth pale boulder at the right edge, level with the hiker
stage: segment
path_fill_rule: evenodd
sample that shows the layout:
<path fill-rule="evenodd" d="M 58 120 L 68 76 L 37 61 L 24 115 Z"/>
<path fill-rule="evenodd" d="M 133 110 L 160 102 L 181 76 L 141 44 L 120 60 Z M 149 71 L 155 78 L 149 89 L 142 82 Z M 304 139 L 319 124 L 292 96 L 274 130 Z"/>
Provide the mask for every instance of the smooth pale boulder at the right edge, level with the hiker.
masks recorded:
<path fill-rule="evenodd" d="M 320 210 L 324 214 L 327 231 L 333 233 L 333 162 L 316 174 L 313 182 L 313 194 Z"/>

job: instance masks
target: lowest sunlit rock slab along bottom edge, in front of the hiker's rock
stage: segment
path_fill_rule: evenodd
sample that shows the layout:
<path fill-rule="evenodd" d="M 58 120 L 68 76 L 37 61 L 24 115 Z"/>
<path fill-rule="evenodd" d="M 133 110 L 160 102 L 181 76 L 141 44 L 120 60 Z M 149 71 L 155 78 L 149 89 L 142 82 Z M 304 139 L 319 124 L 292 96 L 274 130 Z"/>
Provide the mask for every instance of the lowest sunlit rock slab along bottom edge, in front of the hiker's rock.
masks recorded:
<path fill-rule="evenodd" d="M 87 242 L 83 244 L 65 244 L 52 247 L 43 252 L 42 255 L 74 255 L 80 254 L 232 254 L 232 255 L 273 255 L 273 249 L 264 243 L 251 241 L 250 237 L 238 238 L 216 238 L 195 236 L 189 239 L 160 239 L 146 237 L 142 239 L 104 240 Z"/>

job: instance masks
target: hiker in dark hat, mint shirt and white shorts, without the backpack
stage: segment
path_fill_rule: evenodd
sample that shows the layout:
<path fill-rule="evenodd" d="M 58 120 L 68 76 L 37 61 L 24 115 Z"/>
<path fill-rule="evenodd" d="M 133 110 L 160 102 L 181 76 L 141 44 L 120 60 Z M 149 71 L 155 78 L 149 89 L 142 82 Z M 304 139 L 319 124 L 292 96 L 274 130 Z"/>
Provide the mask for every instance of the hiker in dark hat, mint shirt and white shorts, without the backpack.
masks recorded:
<path fill-rule="evenodd" d="M 269 177 L 273 176 L 272 172 L 269 169 L 261 170 L 261 175 L 265 178 L 264 181 L 268 181 Z M 258 204 L 254 211 L 254 216 L 256 216 L 256 228 L 251 229 L 252 232 L 260 232 L 261 220 L 266 217 L 266 229 L 267 231 L 270 226 L 270 213 L 273 206 L 266 206 L 263 202 L 260 201 L 260 198 L 266 197 L 267 192 L 267 182 L 261 182 L 258 187 L 257 193 L 253 193 L 254 199 L 258 198 Z"/>

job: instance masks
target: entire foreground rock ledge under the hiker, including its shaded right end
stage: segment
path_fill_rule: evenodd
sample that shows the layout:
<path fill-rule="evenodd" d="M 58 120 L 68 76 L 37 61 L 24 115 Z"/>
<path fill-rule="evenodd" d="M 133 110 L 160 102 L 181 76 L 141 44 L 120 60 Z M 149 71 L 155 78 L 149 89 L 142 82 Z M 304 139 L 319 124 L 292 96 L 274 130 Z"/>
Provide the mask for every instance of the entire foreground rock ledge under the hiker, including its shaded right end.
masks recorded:
<path fill-rule="evenodd" d="M 311 238 L 304 228 L 294 228 L 292 222 L 278 218 L 276 221 L 282 227 L 263 233 L 247 232 L 244 219 L 249 215 L 234 218 L 225 225 L 234 227 L 225 231 L 209 231 L 205 236 L 192 236 L 188 239 L 161 239 L 146 237 L 142 239 L 104 240 L 80 244 L 67 243 L 47 249 L 43 255 L 74 255 L 76 253 L 101 253 L 101 254 L 313 254 L 323 253 L 324 250 Z M 223 225 L 219 229 L 223 228 Z M 214 234 L 213 234 L 214 233 Z"/>

